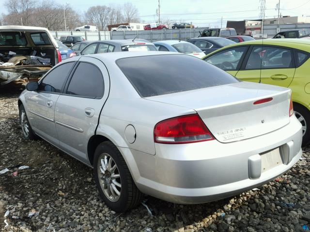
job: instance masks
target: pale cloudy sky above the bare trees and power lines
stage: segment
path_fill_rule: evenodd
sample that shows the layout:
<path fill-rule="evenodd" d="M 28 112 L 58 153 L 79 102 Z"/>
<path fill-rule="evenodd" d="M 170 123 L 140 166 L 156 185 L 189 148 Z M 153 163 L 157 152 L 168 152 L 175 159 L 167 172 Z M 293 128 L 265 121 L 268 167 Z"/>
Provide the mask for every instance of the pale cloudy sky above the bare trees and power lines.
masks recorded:
<path fill-rule="evenodd" d="M 6 0 L 0 0 L 0 13 L 7 13 Z M 123 5 L 133 3 L 139 10 L 140 19 L 151 23 L 158 20 L 158 0 L 54 0 L 71 5 L 83 14 L 95 5 Z M 265 0 L 265 18 L 278 17 L 276 5 L 279 0 Z M 196 27 L 226 27 L 227 20 L 258 19 L 260 0 L 160 0 L 161 19 L 172 23 L 187 22 Z M 280 0 L 280 13 L 290 16 L 309 16 L 310 0 Z M 223 19 L 222 19 L 223 17 Z"/>

